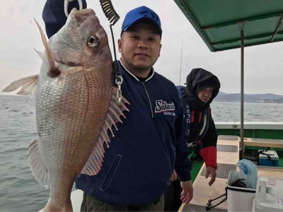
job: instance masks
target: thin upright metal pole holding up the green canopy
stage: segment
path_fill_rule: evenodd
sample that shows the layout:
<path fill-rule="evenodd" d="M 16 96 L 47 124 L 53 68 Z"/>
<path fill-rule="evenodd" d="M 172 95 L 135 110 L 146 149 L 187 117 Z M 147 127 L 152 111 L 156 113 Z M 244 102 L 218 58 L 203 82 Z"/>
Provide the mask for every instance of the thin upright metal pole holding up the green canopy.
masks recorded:
<path fill-rule="evenodd" d="M 241 143 L 240 143 L 240 160 L 243 159 L 243 53 L 244 53 L 244 34 L 243 34 L 243 23 L 241 23 Z"/>

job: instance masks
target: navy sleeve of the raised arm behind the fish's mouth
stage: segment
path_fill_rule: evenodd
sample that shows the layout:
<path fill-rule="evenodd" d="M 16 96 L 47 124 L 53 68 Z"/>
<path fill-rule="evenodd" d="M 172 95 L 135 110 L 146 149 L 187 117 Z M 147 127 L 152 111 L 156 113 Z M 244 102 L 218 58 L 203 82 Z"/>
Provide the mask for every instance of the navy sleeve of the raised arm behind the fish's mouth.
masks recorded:
<path fill-rule="evenodd" d="M 86 8 L 86 0 L 82 1 L 83 8 Z M 69 2 L 69 13 L 74 7 L 79 9 L 78 1 Z M 42 18 L 45 22 L 47 36 L 50 38 L 66 23 L 67 17 L 64 13 L 64 0 L 47 0 L 43 8 Z"/>

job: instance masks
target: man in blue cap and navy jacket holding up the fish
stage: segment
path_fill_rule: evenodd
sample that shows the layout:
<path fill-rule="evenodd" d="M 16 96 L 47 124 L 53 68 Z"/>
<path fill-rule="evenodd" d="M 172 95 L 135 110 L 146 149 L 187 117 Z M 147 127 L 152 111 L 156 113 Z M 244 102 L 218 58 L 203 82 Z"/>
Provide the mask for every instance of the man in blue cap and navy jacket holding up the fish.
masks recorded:
<path fill-rule="evenodd" d="M 47 1 L 43 11 L 47 35 L 62 27 L 62 14 L 63 1 Z M 179 198 L 184 203 L 192 199 L 178 90 L 153 68 L 161 35 L 161 21 L 150 8 L 134 8 L 125 16 L 118 64 L 129 112 L 105 149 L 98 175 L 76 177 L 76 186 L 84 192 L 81 211 L 163 211 L 163 193 L 174 166 L 183 188 Z"/>

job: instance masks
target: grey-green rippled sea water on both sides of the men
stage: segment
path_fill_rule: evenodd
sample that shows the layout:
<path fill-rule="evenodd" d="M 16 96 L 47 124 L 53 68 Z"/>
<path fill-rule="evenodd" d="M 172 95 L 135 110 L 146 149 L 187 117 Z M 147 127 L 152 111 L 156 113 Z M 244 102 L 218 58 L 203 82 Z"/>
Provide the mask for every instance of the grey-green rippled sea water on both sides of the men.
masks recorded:
<path fill-rule="evenodd" d="M 214 122 L 239 122 L 240 102 L 212 102 Z M 246 122 L 283 122 L 283 104 L 245 103 Z M 0 211 L 40 211 L 50 190 L 37 183 L 28 165 L 28 146 L 37 136 L 35 99 L 0 95 Z"/>

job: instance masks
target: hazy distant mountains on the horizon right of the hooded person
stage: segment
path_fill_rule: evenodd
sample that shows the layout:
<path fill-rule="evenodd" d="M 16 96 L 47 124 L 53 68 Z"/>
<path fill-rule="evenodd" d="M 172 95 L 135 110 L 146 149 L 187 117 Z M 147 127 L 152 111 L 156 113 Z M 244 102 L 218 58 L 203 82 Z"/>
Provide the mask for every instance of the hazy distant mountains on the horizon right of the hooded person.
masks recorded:
<path fill-rule="evenodd" d="M 264 94 L 244 94 L 245 102 L 283 102 L 283 95 L 273 93 Z M 214 99 L 216 102 L 240 102 L 241 93 L 224 93 L 219 91 L 219 94 Z"/>

